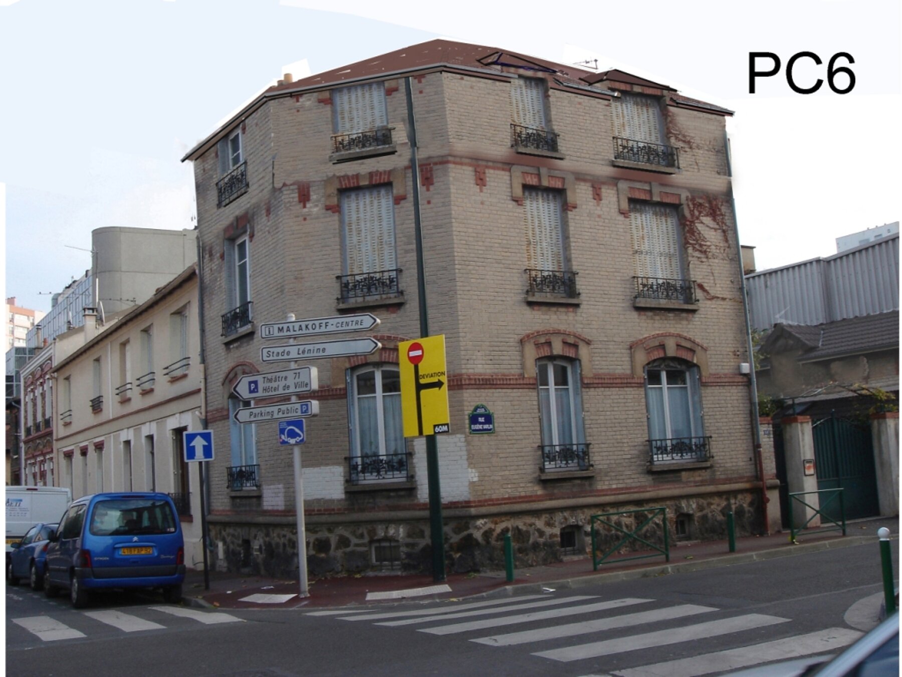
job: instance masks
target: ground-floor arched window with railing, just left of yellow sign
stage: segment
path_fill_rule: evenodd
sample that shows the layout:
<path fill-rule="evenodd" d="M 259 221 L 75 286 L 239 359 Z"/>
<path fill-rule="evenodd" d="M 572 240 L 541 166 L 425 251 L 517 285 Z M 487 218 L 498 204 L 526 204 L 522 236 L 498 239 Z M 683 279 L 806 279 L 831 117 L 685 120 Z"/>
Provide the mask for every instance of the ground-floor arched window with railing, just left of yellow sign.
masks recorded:
<path fill-rule="evenodd" d="M 394 365 L 364 365 L 348 374 L 351 482 L 407 480 L 401 427 L 400 372 Z"/>

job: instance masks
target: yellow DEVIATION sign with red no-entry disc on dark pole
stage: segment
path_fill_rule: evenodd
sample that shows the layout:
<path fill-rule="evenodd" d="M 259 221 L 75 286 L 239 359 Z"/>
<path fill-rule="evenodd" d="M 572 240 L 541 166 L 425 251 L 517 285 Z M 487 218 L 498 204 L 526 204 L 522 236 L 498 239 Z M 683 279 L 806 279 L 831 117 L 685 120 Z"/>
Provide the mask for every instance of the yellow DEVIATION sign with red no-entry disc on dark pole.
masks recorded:
<path fill-rule="evenodd" d="M 445 335 L 399 343 L 398 363 L 404 437 L 449 432 Z"/>

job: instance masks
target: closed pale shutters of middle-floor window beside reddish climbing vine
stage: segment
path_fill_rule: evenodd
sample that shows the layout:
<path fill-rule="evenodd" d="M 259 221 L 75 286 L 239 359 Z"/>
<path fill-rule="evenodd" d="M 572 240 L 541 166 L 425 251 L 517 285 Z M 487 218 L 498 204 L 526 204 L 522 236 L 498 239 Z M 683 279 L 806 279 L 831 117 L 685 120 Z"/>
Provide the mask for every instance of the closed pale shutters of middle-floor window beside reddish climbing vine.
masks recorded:
<path fill-rule="evenodd" d="M 676 208 L 630 202 L 630 228 L 637 277 L 682 279 Z"/>

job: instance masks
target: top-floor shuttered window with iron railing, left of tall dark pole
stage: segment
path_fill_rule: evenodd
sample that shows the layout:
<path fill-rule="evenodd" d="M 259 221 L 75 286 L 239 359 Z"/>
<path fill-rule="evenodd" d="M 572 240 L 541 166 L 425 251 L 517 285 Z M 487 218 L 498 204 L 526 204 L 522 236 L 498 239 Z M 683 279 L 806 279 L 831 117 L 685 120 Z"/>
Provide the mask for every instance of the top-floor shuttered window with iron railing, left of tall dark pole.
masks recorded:
<path fill-rule="evenodd" d="M 391 145 L 385 85 L 370 82 L 333 90 L 333 153 L 365 151 Z"/>

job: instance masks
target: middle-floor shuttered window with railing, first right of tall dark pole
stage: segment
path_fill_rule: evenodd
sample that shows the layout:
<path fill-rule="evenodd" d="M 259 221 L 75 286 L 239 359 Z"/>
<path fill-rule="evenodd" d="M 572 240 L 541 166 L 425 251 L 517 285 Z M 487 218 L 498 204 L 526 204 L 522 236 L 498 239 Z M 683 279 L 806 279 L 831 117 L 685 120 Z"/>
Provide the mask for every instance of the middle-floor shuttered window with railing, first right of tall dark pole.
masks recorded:
<path fill-rule="evenodd" d="M 575 298 L 575 273 L 567 270 L 561 192 L 523 189 L 526 220 L 526 274 L 529 294 Z"/>

